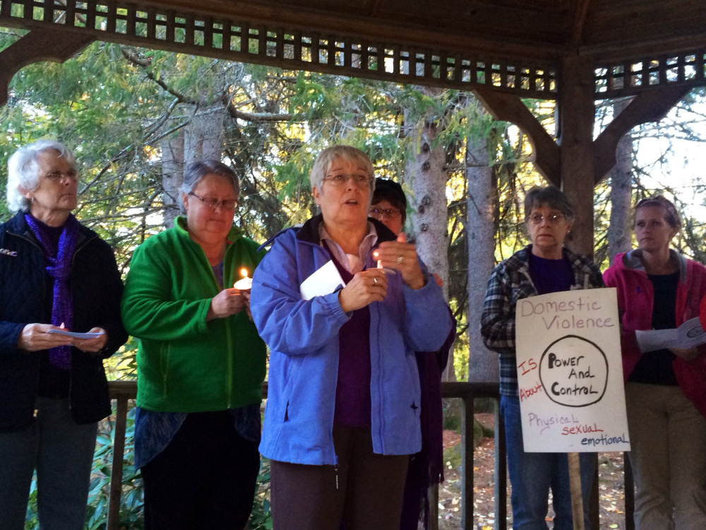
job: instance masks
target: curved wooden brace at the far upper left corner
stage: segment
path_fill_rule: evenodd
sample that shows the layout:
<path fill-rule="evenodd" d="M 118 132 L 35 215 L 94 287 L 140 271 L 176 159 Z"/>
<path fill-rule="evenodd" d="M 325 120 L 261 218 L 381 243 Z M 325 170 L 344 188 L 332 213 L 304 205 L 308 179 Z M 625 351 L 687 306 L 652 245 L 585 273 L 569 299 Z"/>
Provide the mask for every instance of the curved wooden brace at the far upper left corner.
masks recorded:
<path fill-rule="evenodd" d="M 40 61 L 63 63 L 95 40 L 90 35 L 46 28 L 32 30 L 0 52 L 0 105 L 8 98 L 10 81 L 20 69 Z"/>

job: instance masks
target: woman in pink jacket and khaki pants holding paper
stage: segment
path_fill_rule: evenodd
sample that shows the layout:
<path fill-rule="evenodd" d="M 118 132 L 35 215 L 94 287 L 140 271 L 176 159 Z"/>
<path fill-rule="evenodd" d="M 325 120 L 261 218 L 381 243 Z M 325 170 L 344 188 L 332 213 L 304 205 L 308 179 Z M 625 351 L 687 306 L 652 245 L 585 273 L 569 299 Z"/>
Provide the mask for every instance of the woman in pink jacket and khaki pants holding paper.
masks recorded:
<path fill-rule="evenodd" d="M 674 204 L 642 199 L 638 248 L 604 273 L 622 315 L 638 530 L 706 529 L 706 345 L 642 353 L 635 339 L 637 330 L 674 329 L 699 315 L 706 268 L 669 248 L 680 228 Z"/>

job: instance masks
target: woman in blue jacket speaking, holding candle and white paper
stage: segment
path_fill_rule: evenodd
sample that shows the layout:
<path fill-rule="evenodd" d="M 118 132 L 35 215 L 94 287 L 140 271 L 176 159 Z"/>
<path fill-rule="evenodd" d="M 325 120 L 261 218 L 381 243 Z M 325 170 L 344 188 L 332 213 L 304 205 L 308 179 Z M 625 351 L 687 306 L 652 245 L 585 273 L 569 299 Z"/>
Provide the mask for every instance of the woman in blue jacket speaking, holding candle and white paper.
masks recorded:
<path fill-rule="evenodd" d="M 421 447 L 414 352 L 440 348 L 451 320 L 414 246 L 367 218 L 364 153 L 325 149 L 311 186 L 321 214 L 278 235 L 253 276 L 253 320 L 271 350 L 260 450 L 273 525 L 397 528 Z"/>

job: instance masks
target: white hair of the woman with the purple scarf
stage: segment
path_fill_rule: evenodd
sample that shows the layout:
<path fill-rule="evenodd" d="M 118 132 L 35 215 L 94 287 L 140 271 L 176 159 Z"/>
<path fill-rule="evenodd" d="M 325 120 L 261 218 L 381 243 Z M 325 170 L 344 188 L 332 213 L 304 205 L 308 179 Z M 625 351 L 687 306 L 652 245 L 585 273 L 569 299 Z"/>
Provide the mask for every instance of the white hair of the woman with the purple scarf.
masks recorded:
<path fill-rule="evenodd" d="M 37 140 L 20 147 L 7 162 L 7 204 L 12 213 L 28 211 L 30 200 L 23 196 L 20 187 L 32 192 L 40 185 L 37 155 L 51 149 L 59 153 L 78 172 L 78 163 L 71 149 L 55 140 Z"/>

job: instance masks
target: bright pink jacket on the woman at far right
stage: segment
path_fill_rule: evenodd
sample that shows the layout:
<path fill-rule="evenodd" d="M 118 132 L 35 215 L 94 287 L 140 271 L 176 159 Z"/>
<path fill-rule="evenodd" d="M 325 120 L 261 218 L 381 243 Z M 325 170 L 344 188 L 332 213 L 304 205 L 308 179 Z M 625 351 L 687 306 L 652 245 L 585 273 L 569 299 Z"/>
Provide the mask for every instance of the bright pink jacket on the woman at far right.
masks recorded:
<path fill-rule="evenodd" d="M 679 283 L 676 288 L 676 325 L 699 316 L 699 304 L 706 295 L 706 268 L 670 250 L 679 263 Z M 618 309 L 621 312 L 623 378 L 627 381 L 640 360 L 635 340 L 638 329 L 652 329 L 654 291 L 652 282 L 640 261 L 640 249 L 618 254 L 613 266 L 603 273 L 608 287 L 618 289 Z M 706 307 L 706 306 L 705 306 Z M 706 317 L 701 315 L 702 320 Z M 674 360 L 674 374 L 684 395 L 706 416 L 706 345 L 699 346 L 700 355 L 693 361 Z"/>

